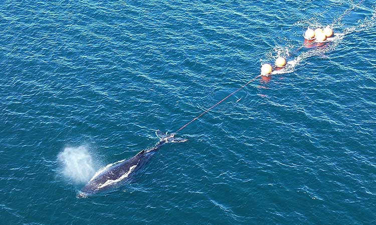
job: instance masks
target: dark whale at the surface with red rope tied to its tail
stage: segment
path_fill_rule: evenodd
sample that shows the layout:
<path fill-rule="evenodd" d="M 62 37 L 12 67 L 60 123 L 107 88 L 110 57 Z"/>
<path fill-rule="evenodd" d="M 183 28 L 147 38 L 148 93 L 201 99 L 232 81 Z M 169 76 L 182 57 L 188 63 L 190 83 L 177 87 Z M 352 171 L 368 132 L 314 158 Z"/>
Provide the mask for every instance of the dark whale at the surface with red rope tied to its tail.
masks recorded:
<path fill-rule="evenodd" d="M 109 189 L 119 184 L 119 182 L 129 179 L 133 173 L 142 168 L 151 158 L 153 153 L 168 142 L 184 142 L 187 139 L 175 137 L 175 134 L 167 134 L 157 130 L 159 141 L 148 149 L 143 149 L 133 157 L 123 159 L 106 165 L 99 169 L 88 183 L 78 192 L 77 197 L 87 197 L 103 190 Z"/>

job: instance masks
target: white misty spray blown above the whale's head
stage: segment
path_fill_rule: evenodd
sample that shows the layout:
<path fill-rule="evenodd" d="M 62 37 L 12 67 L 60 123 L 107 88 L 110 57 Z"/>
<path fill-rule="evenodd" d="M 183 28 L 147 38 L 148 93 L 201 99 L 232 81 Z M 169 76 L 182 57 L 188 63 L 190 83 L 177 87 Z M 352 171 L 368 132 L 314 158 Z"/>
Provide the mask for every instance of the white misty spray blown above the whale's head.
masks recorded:
<path fill-rule="evenodd" d="M 62 173 L 75 184 L 83 184 L 95 174 L 97 165 L 90 155 L 88 146 L 65 147 L 58 154 Z"/>

